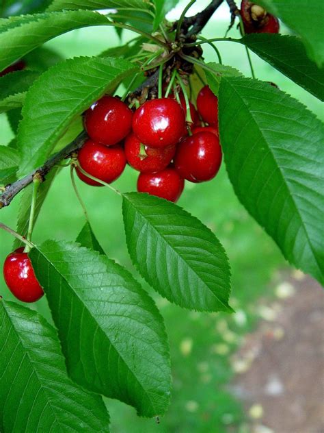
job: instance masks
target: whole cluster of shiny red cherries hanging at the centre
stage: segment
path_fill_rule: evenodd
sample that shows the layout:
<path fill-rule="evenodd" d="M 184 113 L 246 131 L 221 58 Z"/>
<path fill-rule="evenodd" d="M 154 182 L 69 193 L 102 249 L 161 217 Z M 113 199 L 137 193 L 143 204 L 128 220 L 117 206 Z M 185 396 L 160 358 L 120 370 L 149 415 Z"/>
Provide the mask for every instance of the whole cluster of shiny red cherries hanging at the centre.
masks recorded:
<path fill-rule="evenodd" d="M 139 171 L 137 190 L 177 201 L 185 180 L 213 179 L 221 165 L 217 97 L 208 86 L 200 90 L 197 108 L 189 102 L 192 122 L 186 122 L 184 95 L 150 99 L 135 112 L 118 97 L 104 96 L 85 112 L 90 139 L 79 151 L 77 174 L 100 186 L 85 173 L 110 184 L 126 163 Z M 202 123 L 203 122 L 203 123 Z"/>

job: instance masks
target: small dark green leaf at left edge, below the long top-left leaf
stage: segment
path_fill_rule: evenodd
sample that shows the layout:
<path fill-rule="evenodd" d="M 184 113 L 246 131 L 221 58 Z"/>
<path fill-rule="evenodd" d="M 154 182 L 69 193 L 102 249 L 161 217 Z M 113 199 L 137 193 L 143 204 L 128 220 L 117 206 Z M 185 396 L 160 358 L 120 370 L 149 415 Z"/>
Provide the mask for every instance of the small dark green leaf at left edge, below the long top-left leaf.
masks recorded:
<path fill-rule="evenodd" d="M 0 113 L 21 107 L 27 90 L 39 75 L 36 71 L 16 71 L 0 77 Z"/>

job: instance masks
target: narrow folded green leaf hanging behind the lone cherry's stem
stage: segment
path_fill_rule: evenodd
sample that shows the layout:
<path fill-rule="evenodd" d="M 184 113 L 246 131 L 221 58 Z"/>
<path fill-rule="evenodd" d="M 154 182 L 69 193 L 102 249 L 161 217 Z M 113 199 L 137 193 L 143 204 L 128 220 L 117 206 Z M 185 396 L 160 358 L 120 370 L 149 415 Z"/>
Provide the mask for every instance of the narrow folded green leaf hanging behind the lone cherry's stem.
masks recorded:
<path fill-rule="evenodd" d="M 53 169 L 51 169 L 49 174 L 46 175 L 45 182 L 42 182 L 42 184 L 40 184 L 40 186 L 38 187 L 34 224 L 36 224 L 44 200 L 46 199 L 47 193 L 49 193 L 49 189 L 51 188 L 53 180 L 55 179 L 55 175 L 57 175 L 58 171 L 59 171 L 59 167 L 54 167 Z M 33 193 L 32 185 L 27 186 L 27 188 L 23 190 L 23 193 L 21 193 L 21 202 L 19 203 L 16 232 L 21 234 L 22 236 L 27 236 L 27 232 L 28 232 L 32 193 Z M 16 238 L 14 239 L 13 249 L 21 247 L 22 245 L 23 243 L 21 243 L 20 240 Z"/>

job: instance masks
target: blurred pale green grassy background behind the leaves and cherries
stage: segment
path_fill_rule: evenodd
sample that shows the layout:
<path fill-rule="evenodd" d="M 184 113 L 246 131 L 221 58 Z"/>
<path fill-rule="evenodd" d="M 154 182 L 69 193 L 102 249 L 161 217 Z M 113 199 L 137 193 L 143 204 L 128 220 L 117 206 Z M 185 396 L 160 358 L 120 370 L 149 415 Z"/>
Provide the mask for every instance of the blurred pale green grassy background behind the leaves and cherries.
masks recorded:
<path fill-rule="evenodd" d="M 197 1 L 191 12 L 202 9 L 206 3 L 208 2 Z M 187 1 L 180 2 L 171 17 L 178 17 L 185 4 Z M 224 4 L 208 23 L 203 34 L 207 38 L 224 36 L 227 26 L 228 8 Z M 282 32 L 285 32 L 285 29 L 282 29 Z M 124 32 L 122 40 L 132 36 L 133 34 Z M 239 36 L 237 29 L 232 29 L 230 36 Z M 46 45 L 70 58 L 76 55 L 96 55 L 119 43 L 113 29 L 91 27 L 70 32 Z M 237 67 L 250 76 L 243 46 L 220 42 L 218 48 L 224 64 Z M 215 52 L 208 46 L 205 46 L 204 55 L 208 61 L 217 61 Z M 281 90 L 302 101 L 317 116 L 323 116 L 321 103 L 316 98 L 253 53 L 252 60 L 259 79 L 275 82 Z M 12 137 L 5 116 L 0 115 L 0 144 L 8 144 Z M 135 190 L 136 178 L 137 173 L 128 167 L 116 182 L 116 187 L 122 191 Z M 79 180 L 77 183 L 90 214 L 94 232 L 107 255 L 135 273 L 126 252 L 120 197 L 116 197 L 107 188 L 93 188 L 81 184 Z M 245 420 L 240 401 L 228 391 L 228 384 L 234 375 L 231 356 L 258 319 L 258 299 L 272 296 L 273 287 L 280 282 L 280 271 L 287 264 L 271 238 L 262 232 L 239 203 L 224 166 L 211 182 L 197 185 L 187 182 L 178 204 L 211 227 L 226 248 L 232 265 L 230 305 L 237 313 L 228 316 L 181 310 L 159 297 L 137 275 L 156 300 L 165 318 L 172 355 L 172 402 L 167 415 L 158 425 L 152 419 L 137 417 L 133 408 L 119 401 L 107 400 L 111 413 L 111 431 L 115 433 L 239 432 L 240 425 L 243 425 Z M 1 210 L 1 221 L 14 228 L 18 206 L 17 197 L 9 208 Z M 83 212 L 72 190 L 68 169 L 63 169 L 46 198 L 33 240 L 36 243 L 47 238 L 74 240 L 83 223 Z M 3 262 L 12 249 L 12 238 L 1 232 L 0 243 L 0 261 Z M 0 295 L 5 299 L 12 299 L 2 275 Z M 37 308 L 49 318 L 45 299 L 33 308 Z"/>

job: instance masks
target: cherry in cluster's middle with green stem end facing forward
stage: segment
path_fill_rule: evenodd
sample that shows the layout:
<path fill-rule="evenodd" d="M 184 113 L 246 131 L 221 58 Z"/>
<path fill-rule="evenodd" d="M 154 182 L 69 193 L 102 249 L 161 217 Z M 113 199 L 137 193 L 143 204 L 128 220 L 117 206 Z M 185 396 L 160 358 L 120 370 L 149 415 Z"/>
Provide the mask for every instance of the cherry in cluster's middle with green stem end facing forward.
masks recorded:
<path fill-rule="evenodd" d="M 126 160 L 133 169 L 142 173 L 154 173 L 165 169 L 176 153 L 176 146 L 159 148 L 142 146 L 143 149 L 141 149 L 141 142 L 133 132 L 125 139 Z"/>

